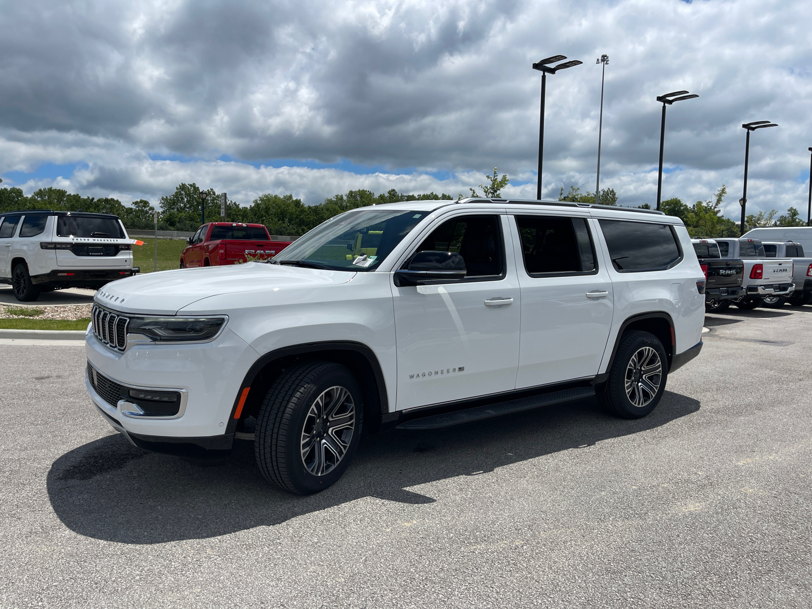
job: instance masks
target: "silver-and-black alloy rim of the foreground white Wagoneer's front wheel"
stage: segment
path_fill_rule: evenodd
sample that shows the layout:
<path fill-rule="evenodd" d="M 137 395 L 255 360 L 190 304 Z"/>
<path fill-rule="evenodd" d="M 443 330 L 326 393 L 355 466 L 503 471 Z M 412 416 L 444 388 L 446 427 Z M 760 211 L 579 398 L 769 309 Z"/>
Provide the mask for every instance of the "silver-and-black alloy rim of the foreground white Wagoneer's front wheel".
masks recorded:
<path fill-rule="evenodd" d="M 344 387 L 330 387 L 310 406 L 301 435 L 304 467 L 313 476 L 330 473 L 347 454 L 355 433 L 355 402 Z"/>

